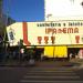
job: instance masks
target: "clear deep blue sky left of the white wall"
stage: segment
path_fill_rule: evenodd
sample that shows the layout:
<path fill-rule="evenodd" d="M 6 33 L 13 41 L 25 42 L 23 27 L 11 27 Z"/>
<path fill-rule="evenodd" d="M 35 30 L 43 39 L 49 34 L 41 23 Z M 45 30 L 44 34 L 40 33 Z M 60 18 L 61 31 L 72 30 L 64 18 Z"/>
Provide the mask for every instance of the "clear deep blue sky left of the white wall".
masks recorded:
<path fill-rule="evenodd" d="M 43 21 L 44 0 L 3 0 L 3 12 L 15 21 Z"/>

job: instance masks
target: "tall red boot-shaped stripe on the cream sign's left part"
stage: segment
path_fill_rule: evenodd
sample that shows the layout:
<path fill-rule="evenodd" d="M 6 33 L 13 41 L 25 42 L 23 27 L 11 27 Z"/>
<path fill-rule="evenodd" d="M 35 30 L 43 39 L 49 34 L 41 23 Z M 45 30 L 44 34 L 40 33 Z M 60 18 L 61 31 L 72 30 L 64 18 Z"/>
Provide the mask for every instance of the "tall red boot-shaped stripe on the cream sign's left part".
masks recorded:
<path fill-rule="evenodd" d="M 27 45 L 30 45 L 31 43 L 28 41 L 28 24 L 27 22 L 23 22 L 23 43 Z"/>

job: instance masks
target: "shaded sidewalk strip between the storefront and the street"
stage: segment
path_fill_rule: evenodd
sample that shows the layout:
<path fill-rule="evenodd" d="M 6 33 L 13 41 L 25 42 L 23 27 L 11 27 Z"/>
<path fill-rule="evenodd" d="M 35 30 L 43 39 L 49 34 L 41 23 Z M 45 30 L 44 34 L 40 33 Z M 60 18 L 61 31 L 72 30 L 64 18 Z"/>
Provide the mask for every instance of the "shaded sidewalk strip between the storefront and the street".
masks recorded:
<path fill-rule="evenodd" d="M 1 62 L 0 66 L 29 66 L 29 61 L 19 62 L 19 61 L 9 61 Z M 83 60 L 81 59 L 72 59 L 70 61 L 35 61 L 35 66 L 43 68 L 53 68 L 53 66 L 62 66 L 62 68 L 81 68 L 83 69 Z"/>

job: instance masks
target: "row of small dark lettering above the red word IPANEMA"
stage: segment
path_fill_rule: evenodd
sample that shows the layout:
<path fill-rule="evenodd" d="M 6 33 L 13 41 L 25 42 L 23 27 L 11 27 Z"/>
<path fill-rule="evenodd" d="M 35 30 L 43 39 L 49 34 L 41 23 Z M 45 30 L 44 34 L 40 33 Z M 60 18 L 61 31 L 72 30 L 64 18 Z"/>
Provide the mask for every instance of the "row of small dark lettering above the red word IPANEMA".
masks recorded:
<path fill-rule="evenodd" d="M 73 22 L 43 22 L 37 23 L 37 27 L 83 27 L 83 22 L 73 21 Z"/>

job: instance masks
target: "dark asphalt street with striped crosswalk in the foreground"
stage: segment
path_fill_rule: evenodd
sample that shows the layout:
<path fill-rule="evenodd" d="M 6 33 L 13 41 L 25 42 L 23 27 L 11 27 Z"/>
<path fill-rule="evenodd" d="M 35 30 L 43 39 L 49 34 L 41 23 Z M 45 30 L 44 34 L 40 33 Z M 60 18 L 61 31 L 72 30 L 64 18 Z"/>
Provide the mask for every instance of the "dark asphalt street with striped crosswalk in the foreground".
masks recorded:
<path fill-rule="evenodd" d="M 0 66 L 0 83 L 83 83 L 83 69 L 37 63 L 34 66 Z"/>

